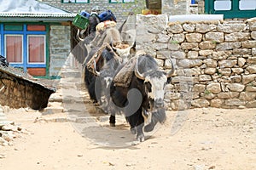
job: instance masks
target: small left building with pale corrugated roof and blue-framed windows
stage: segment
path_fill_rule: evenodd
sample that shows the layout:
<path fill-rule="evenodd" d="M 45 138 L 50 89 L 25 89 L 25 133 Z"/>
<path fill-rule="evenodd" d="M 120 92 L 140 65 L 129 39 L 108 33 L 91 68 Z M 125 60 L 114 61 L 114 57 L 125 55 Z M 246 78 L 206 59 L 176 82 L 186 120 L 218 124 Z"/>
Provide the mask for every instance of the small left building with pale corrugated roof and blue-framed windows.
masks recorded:
<path fill-rule="evenodd" d="M 55 77 L 71 50 L 75 14 L 35 0 L 0 1 L 0 53 L 32 76 Z"/>

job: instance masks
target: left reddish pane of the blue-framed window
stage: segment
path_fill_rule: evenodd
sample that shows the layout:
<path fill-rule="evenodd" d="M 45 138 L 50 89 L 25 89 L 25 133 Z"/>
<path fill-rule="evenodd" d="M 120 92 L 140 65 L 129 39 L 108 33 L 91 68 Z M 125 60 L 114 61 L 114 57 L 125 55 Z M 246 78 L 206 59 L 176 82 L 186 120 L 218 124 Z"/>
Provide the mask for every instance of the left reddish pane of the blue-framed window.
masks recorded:
<path fill-rule="evenodd" d="M 5 35 L 5 55 L 10 63 L 22 62 L 22 35 Z"/>

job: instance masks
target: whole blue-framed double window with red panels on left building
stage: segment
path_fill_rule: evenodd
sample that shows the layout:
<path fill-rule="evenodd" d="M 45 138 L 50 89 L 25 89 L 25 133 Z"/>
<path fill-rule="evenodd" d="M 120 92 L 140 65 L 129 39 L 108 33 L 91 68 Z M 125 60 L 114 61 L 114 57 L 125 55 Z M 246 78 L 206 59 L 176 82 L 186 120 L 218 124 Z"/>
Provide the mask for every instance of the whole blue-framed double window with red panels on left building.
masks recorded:
<path fill-rule="evenodd" d="M 1 23 L 1 54 L 11 66 L 22 68 L 32 76 L 47 76 L 48 31 L 49 25 Z"/>

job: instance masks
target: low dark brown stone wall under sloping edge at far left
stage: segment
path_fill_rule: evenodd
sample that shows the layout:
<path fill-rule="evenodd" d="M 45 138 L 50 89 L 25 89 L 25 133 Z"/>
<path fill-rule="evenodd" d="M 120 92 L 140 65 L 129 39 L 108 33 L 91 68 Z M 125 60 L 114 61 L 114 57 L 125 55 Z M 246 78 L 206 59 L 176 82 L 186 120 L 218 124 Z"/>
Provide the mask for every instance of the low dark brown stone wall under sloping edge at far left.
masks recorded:
<path fill-rule="evenodd" d="M 31 107 L 34 110 L 47 107 L 49 96 L 55 92 L 55 89 L 45 88 L 38 82 L 29 81 L 20 77 L 20 73 L 16 75 L 14 71 L 0 67 L 0 105 L 8 105 L 16 109 Z"/>

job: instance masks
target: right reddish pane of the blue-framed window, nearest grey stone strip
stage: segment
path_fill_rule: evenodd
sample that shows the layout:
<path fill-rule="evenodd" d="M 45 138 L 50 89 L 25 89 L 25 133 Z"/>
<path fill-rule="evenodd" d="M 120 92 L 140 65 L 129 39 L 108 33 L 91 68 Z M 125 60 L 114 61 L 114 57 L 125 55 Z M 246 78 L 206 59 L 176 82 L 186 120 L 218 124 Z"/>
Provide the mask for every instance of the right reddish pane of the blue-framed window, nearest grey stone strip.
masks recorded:
<path fill-rule="evenodd" d="M 28 62 L 45 63 L 45 37 L 44 36 L 27 36 L 28 45 Z"/>

